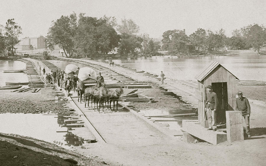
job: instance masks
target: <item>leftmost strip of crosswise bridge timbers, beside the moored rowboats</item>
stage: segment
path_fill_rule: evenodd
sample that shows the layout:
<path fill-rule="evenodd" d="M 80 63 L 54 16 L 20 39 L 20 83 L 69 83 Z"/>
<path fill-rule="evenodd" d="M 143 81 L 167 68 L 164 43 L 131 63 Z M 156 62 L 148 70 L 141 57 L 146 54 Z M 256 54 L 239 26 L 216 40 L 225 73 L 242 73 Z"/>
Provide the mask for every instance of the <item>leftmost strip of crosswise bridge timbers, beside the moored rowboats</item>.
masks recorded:
<path fill-rule="evenodd" d="M 40 77 L 35 65 L 28 60 L 22 59 L 21 61 L 26 63 L 26 72 L 29 80 L 30 87 L 44 87 L 44 82 Z"/>

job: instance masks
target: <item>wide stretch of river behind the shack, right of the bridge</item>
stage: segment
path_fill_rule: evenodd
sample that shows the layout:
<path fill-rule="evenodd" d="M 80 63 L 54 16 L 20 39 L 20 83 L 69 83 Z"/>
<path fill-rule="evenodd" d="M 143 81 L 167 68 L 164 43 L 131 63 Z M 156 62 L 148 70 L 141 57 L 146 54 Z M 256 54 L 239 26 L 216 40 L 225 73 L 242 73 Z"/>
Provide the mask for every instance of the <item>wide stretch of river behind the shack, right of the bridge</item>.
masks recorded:
<path fill-rule="evenodd" d="M 218 61 L 228 71 L 240 80 L 266 80 L 266 56 L 258 56 L 250 51 L 243 51 L 241 55 L 231 56 L 198 56 L 181 58 L 138 58 L 113 59 L 114 63 L 129 66 L 139 71 L 160 74 L 177 80 L 195 80 L 195 76 L 207 66 L 210 61 Z"/>

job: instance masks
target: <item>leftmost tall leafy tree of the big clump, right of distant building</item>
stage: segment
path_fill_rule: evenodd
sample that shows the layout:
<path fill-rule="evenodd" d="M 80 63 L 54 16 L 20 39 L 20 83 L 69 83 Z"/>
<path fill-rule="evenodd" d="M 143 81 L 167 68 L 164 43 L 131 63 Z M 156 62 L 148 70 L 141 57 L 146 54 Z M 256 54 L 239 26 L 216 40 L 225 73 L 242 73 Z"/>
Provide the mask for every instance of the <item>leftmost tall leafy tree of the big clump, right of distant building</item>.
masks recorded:
<path fill-rule="evenodd" d="M 77 15 L 76 13 L 69 16 L 61 16 L 55 22 L 52 22 L 47 35 L 49 43 L 59 44 L 67 56 L 72 56 L 74 52 L 74 37 L 77 33 Z"/>

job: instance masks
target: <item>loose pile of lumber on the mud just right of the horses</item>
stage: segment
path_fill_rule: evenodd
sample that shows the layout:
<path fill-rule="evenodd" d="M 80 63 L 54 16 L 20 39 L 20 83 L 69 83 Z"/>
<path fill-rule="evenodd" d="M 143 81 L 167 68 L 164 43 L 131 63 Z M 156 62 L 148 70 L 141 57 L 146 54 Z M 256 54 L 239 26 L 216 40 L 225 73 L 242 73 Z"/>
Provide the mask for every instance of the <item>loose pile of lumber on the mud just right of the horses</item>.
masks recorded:
<path fill-rule="evenodd" d="M 120 97 L 120 99 L 123 102 L 149 102 L 149 103 L 155 102 L 153 100 L 153 97 L 148 97 L 148 96 L 142 95 L 140 93 L 142 93 L 142 92 L 129 93 L 129 94 L 125 95 L 125 96 Z"/>

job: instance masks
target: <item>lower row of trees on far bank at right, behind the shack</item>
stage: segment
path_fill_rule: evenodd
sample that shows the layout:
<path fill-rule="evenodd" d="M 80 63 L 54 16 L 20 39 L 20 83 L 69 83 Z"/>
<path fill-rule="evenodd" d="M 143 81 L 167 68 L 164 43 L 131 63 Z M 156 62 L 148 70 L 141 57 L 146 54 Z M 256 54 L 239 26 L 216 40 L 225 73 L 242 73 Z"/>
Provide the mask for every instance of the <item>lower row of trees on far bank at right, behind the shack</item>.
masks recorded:
<path fill-rule="evenodd" d="M 172 54 L 188 53 L 196 51 L 206 54 L 208 51 L 242 50 L 254 48 L 259 53 L 261 47 L 266 44 L 266 29 L 263 25 L 248 25 L 236 29 L 232 37 L 225 35 L 225 30 L 212 32 L 198 28 L 187 36 L 185 30 L 168 30 L 163 33 L 162 49 Z"/>

